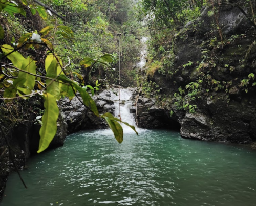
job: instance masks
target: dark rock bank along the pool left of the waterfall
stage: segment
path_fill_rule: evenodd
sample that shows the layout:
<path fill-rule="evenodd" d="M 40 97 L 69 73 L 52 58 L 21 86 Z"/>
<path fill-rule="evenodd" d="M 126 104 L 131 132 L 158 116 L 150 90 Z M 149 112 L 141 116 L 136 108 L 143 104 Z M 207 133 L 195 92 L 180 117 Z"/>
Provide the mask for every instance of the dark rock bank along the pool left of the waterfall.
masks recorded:
<path fill-rule="evenodd" d="M 93 98 L 100 113 L 114 113 L 114 102 L 110 93 L 104 90 Z M 79 98 L 79 97 L 78 97 Z M 67 99 L 67 101 L 69 101 Z M 37 107 L 40 107 L 38 103 Z M 71 103 L 59 102 L 60 115 L 57 121 L 58 130 L 51 142 L 49 149 L 63 146 L 66 136 L 70 133 L 84 129 L 106 128 L 107 124 L 93 115 L 76 97 Z M 11 171 L 15 171 L 13 162 L 17 168 L 23 169 L 27 159 L 36 154 L 39 145 L 40 125 L 35 124 L 35 114 L 27 111 L 29 119 L 13 124 L 8 119 L 8 111 L 0 107 L 0 200 L 4 193 L 6 180 Z M 4 133 L 4 134 L 3 134 Z M 10 145 L 8 147 L 7 141 Z"/>

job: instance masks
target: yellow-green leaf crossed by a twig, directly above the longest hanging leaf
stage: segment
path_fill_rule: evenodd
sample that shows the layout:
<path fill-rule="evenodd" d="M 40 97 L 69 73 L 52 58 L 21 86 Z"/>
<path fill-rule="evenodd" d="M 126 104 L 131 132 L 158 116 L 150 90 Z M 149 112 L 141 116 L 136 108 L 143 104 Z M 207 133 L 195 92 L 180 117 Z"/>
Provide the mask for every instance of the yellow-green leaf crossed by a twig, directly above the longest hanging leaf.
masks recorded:
<path fill-rule="evenodd" d="M 46 77 L 52 77 L 52 76 L 56 77 L 58 75 L 57 73 L 58 65 L 59 64 L 57 60 L 54 58 L 47 69 Z M 59 100 L 60 99 L 59 83 L 51 79 L 47 79 L 46 85 L 47 85 L 47 93 L 50 93 L 51 95 L 53 95 L 55 97 L 55 100 Z"/>

